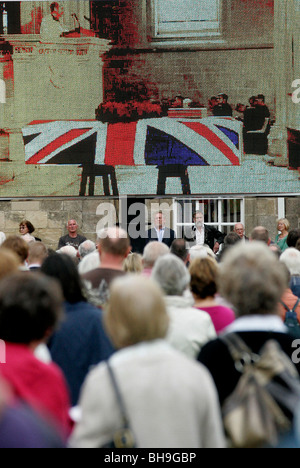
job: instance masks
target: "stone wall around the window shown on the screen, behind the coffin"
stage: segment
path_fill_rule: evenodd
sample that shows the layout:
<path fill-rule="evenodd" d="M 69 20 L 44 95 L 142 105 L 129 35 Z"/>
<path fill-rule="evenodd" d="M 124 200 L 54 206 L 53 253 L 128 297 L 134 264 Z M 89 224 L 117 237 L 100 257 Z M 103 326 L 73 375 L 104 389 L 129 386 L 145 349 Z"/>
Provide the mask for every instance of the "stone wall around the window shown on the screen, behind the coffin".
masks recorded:
<path fill-rule="evenodd" d="M 156 42 L 151 2 L 123 0 L 120 5 L 124 37 L 107 54 L 105 91 L 116 77 L 125 80 L 132 74 L 159 99 L 181 94 L 205 106 L 219 92 L 228 94 L 233 106 L 248 104 L 250 96 L 263 93 L 274 115 L 273 0 L 222 2 L 220 43 L 188 38 Z"/>

